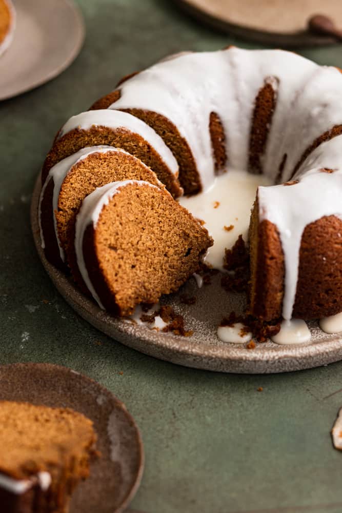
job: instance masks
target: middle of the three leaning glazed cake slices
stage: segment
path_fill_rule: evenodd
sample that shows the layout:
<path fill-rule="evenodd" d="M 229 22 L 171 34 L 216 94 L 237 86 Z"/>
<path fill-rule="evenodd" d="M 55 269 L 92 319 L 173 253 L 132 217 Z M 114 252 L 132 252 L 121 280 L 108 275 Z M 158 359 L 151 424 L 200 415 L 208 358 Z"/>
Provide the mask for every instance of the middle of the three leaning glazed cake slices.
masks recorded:
<path fill-rule="evenodd" d="M 63 268 L 68 263 L 79 285 L 75 264 L 75 220 L 82 201 L 96 187 L 110 182 L 145 180 L 164 188 L 155 173 L 126 151 L 111 146 L 83 148 L 50 169 L 39 207 L 41 239 L 46 258 Z"/>

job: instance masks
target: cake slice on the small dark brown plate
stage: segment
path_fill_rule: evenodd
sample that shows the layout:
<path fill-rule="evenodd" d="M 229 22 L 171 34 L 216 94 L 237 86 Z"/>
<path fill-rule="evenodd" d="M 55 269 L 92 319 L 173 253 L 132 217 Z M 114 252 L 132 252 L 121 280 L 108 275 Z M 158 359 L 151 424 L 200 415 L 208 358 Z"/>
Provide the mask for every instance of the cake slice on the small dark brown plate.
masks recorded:
<path fill-rule="evenodd" d="M 0 401 L 0 510 L 67 513 L 97 453 L 93 423 L 69 408 Z"/>

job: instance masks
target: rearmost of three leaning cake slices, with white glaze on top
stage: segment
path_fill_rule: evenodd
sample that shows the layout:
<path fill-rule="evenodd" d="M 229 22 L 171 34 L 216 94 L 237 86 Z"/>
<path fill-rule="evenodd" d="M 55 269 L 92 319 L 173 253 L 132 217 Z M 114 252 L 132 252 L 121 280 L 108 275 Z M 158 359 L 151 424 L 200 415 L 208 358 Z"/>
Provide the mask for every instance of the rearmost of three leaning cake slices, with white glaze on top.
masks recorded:
<path fill-rule="evenodd" d="M 42 169 L 42 184 L 57 162 L 87 146 L 122 148 L 150 167 L 174 198 L 183 193 L 178 164 L 170 149 L 150 126 L 137 117 L 116 110 L 82 112 L 62 127 Z"/>

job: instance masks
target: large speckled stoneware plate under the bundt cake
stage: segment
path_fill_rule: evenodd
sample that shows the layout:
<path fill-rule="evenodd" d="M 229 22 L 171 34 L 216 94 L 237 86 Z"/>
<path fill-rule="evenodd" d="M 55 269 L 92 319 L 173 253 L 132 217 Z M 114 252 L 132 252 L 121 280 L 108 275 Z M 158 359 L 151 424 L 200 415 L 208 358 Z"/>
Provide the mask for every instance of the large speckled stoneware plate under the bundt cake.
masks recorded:
<path fill-rule="evenodd" d="M 242 312 L 245 298 L 244 294 L 228 294 L 220 285 L 219 274 L 212 278 L 210 285 L 200 289 L 191 278 L 177 293 L 165 296 L 160 301 L 171 305 L 177 313 L 183 315 L 186 329 L 193 330 L 191 337 L 175 336 L 112 317 L 79 292 L 64 273 L 45 259 L 37 219 L 40 182 L 38 176 L 31 204 L 31 225 L 39 258 L 57 290 L 72 308 L 113 339 L 155 358 L 220 372 L 286 372 L 342 360 L 342 338 L 327 335 L 318 328 L 316 322 L 309 325 L 312 333 L 309 344 L 280 346 L 266 342 L 257 344 L 254 349 L 247 349 L 245 344 L 221 342 L 216 335 L 217 326 L 231 311 Z M 196 297 L 195 304 L 182 303 L 183 294 Z"/>

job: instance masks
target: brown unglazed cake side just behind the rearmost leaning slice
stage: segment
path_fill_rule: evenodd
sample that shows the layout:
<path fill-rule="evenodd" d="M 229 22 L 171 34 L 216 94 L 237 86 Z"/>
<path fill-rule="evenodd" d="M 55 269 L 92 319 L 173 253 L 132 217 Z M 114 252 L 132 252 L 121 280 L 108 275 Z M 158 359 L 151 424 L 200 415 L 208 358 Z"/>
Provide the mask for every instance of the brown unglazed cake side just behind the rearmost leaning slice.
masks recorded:
<path fill-rule="evenodd" d="M 137 73 L 134 73 L 134 75 Z M 127 79 L 128 80 L 128 79 Z M 112 101 L 116 95 L 119 96 Z M 95 102 L 89 110 L 107 109 L 115 103 L 120 97 L 120 90 L 112 91 Z M 188 145 L 188 142 L 180 135 L 177 127 L 171 123 L 167 117 L 157 112 L 143 109 L 118 109 L 128 112 L 149 125 L 160 137 L 174 154 L 179 166 L 179 182 L 183 187 L 185 194 L 196 194 L 202 190 L 200 177 L 194 161 L 194 157 Z M 220 150 L 222 151 L 222 150 Z"/>

